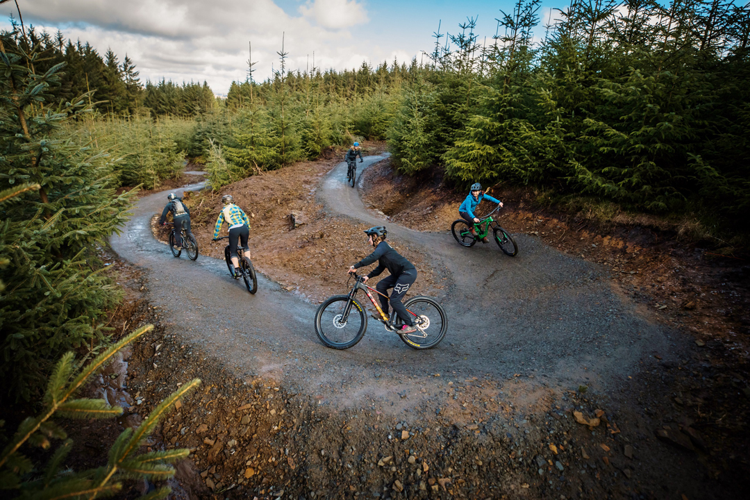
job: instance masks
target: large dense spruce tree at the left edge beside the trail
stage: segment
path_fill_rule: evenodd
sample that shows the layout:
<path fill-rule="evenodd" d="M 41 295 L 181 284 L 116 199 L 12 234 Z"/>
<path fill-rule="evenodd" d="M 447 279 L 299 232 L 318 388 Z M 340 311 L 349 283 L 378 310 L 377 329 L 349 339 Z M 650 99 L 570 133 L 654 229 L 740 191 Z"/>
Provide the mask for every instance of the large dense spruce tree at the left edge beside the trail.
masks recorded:
<path fill-rule="evenodd" d="M 0 376 L 27 399 L 62 352 L 105 337 L 98 319 L 118 291 L 95 246 L 124 223 L 132 196 L 115 194 L 111 158 L 65 127 L 92 112 L 89 96 L 50 105 L 64 64 L 37 74 L 39 57 L 38 46 L 0 42 L 0 191 L 39 185 L 0 211 L 0 255 L 10 261 L 0 271 Z"/>

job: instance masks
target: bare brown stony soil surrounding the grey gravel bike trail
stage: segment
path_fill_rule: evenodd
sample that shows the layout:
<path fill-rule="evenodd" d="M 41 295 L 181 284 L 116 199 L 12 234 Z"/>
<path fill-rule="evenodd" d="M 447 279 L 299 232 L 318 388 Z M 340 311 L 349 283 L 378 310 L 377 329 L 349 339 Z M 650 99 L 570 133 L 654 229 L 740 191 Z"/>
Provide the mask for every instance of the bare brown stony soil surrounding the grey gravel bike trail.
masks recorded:
<path fill-rule="evenodd" d="M 362 224 L 326 214 L 314 198 L 321 176 L 336 163 L 338 158 L 302 163 L 222 193 L 189 196 L 202 251 L 223 257 L 223 245 L 207 240 L 221 194 L 232 193 L 255 215 L 251 248 L 260 271 L 312 301 L 341 293 L 346 268 L 367 248 Z M 414 190 L 389 168 L 383 162 L 365 170 L 365 202 L 399 224 L 445 231 L 463 196 L 438 185 Z M 500 219 L 505 229 L 609 265 L 618 271 L 622 294 L 643 304 L 643 314 L 694 326 L 691 334 L 701 342 L 676 362 L 655 352 L 655 363 L 601 390 L 583 385 L 585 371 L 575 390 L 548 378 L 546 370 L 523 366 L 503 381 L 446 369 L 433 373 L 429 385 L 419 382 L 428 374 L 415 373 L 411 384 L 407 378 L 398 386 L 389 367 L 376 362 L 365 371 L 384 387 L 404 390 L 363 392 L 346 404 L 323 390 L 300 394 L 271 374 L 239 375 L 186 342 L 169 311 L 145 304 L 148 277 L 121 280 L 135 304 L 124 307 L 133 308 L 127 331 L 157 325 L 127 361 L 121 389 L 136 403 L 126 409 L 130 422 L 148 415 L 178 384 L 196 376 L 203 381 L 150 443 L 193 451 L 180 466 L 178 498 L 741 498 L 750 472 L 746 266 L 719 266 L 704 253 L 654 241 L 638 229 L 593 230 L 564 214 L 532 211 L 523 196 L 493 196 L 506 203 Z M 289 224 L 291 211 L 303 214 L 305 224 L 278 231 Z M 400 250 L 421 273 L 427 267 L 419 250 Z M 133 272 L 125 262 L 113 265 L 123 275 Z M 422 283 L 438 287 L 440 273 L 430 275 Z M 325 362 L 302 363 L 335 373 Z M 100 385 L 105 382 L 111 386 L 106 379 Z M 348 382 L 341 377 L 342 388 Z M 395 411 L 399 400 L 418 403 Z M 104 453 L 105 440 L 96 446 Z"/>

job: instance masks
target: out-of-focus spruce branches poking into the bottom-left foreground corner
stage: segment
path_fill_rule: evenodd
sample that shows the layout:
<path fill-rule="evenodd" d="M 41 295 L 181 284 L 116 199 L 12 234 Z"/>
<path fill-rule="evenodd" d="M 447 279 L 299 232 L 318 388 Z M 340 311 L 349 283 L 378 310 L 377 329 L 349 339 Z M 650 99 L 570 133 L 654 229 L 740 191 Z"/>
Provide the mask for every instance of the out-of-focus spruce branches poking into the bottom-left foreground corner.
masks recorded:
<path fill-rule="evenodd" d="M 199 379 L 181 385 L 154 408 L 139 427 L 124 430 L 110 448 L 106 465 L 98 469 L 76 472 L 63 468 L 73 442 L 53 420 L 61 417 L 93 419 L 121 415 L 120 407 L 110 406 L 105 400 L 78 397 L 79 393 L 86 382 L 111 361 L 120 349 L 153 328 L 153 325 L 139 328 L 80 370 L 75 367 L 73 352 L 60 358 L 46 379 L 46 391 L 41 398 L 42 412 L 35 417 L 26 418 L 16 433 L 9 440 L 4 440 L 7 445 L 0 453 L 0 491 L 18 495 L 18 498 L 96 499 L 118 493 L 122 488 L 122 481 L 126 479 L 163 481 L 172 478 L 175 469 L 169 464 L 187 457 L 189 450 L 149 451 L 145 454 L 139 454 L 138 451 L 169 409 L 200 384 Z M 24 454 L 24 448 L 28 446 L 48 450 L 55 441 L 62 441 L 62 445 L 51 454 L 43 468 Z M 39 453 L 32 456 L 38 457 Z M 36 473 L 32 476 L 32 472 Z M 142 498 L 163 499 L 170 491 L 169 487 L 160 487 Z"/>

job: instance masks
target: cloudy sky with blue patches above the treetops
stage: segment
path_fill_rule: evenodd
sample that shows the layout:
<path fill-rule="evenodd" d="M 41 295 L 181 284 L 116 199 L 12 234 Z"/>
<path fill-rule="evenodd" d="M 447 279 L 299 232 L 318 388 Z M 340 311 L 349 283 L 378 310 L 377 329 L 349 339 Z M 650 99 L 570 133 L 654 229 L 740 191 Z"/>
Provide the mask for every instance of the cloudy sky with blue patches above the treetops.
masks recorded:
<path fill-rule="evenodd" d="M 101 54 L 113 49 L 130 56 L 141 80 L 207 81 L 224 94 L 233 80 L 244 81 L 248 42 L 257 64 L 255 79 L 278 69 L 284 50 L 290 69 L 313 64 L 323 70 L 359 67 L 362 61 L 411 61 L 430 51 L 431 37 L 458 33 L 467 16 L 478 17 L 477 32 L 491 40 L 500 9 L 512 0 L 19 0 L 26 25 L 89 41 Z M 543 0 L 539 15 L 565 0 Z M 17 16 L 13 2 L 0 5 L 1 28 Z M 544 28 L 536 29 L 543 36 Z"/>

